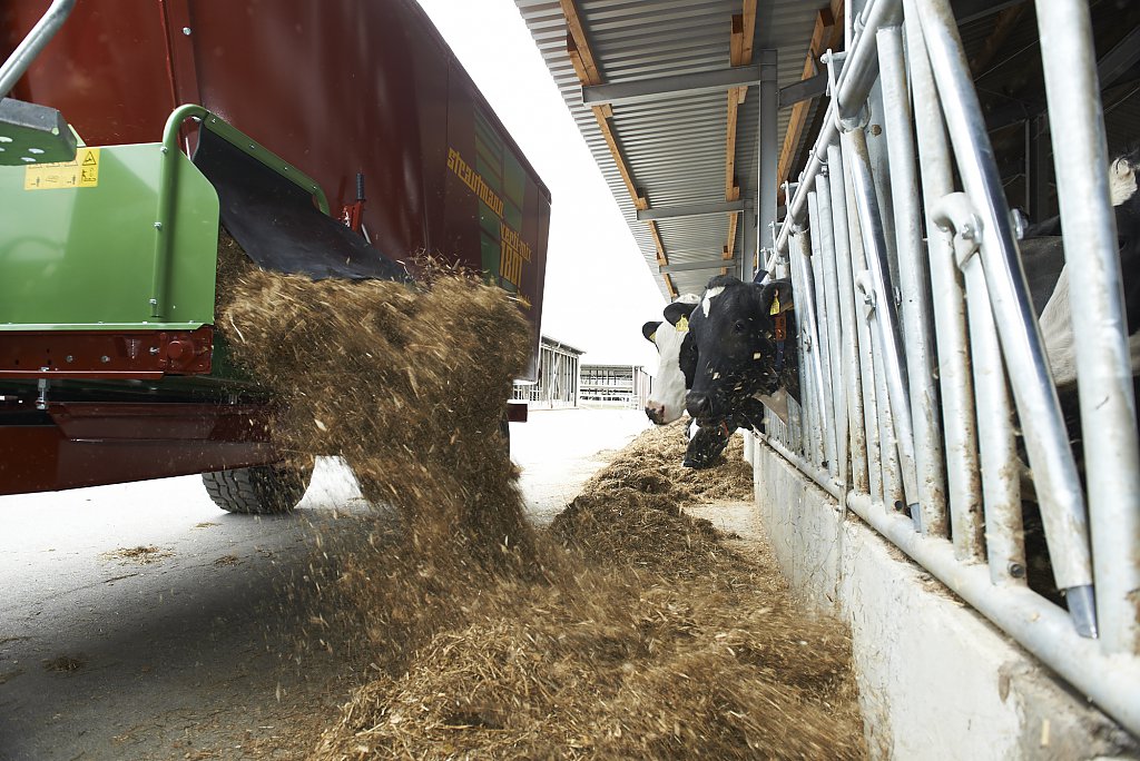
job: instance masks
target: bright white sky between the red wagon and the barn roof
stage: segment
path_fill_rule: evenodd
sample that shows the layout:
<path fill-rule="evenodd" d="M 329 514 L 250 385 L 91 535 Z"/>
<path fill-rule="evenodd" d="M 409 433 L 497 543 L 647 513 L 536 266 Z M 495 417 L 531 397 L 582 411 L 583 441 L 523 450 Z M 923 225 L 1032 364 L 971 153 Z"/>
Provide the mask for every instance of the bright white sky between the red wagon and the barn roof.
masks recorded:
<path fill-rule="evenodd" d="M 656 371 L 641 326 L 661 319 L 665 297 L 513 0 L 418 2 L 554 198 L 543 334 L 586 362 Z"/>

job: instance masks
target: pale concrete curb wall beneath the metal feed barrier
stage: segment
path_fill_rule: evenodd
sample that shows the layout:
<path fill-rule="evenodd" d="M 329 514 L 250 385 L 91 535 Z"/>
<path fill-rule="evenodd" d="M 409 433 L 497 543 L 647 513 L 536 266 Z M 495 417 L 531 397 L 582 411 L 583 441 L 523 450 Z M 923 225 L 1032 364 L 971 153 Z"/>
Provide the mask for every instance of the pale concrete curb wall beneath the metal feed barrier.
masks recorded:
<path fill-rule="evenodd" d="M 858 516 L 840 516 L 769 447 L 750 449 L 760 519 L 792 591 L 852 628 L 874 758 L 1140 759 L 1137 738 Z"/>

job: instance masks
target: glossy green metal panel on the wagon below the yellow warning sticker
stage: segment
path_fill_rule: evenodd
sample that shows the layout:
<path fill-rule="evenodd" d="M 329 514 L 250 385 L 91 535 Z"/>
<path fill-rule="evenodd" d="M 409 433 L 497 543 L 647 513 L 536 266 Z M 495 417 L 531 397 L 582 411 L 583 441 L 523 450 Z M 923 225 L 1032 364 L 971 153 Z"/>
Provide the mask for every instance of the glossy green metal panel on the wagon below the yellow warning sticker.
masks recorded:
<path fill-rule="evenodd" d="M 218 195 L 161 144 L 97 149 L 95 181 L 68 167 L 0 167 L 0 330 L 193 329 L 213 322 Z M 173 214 L 160 230 L 163 161 Z M 80 172 L 89 154 L 81 149 Z M 80 174 L 83 178 L 84 175 Z M 39 189 L 36 183 L 39 181 Z M 172 236 L 164 321 L 152 317 L 160 235 Z"/>

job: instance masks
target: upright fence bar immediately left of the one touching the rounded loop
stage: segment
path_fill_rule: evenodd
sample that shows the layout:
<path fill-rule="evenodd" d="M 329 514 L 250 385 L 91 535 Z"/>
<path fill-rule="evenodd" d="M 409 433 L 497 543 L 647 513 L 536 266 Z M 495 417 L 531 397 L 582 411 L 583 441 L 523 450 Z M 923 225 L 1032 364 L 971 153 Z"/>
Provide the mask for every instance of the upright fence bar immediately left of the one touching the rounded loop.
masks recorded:
<path fill-rule="evenodd" d="M 919 181 L 914 165 L 914 137 L 901 26 L 877 32 L 879 76 L 882 83 L 883 126 L 890 159 L 895 246 L 902 296 L 902 330 L 910 380 L 911 422 L 914 433 L 914 467 L 918 476 L 919 529 L 946 535 L 946 474 L 943 467 L 938 394 L 930 362 L 930 301 L 926 261 L 922 256 L 922 220 Z"/>

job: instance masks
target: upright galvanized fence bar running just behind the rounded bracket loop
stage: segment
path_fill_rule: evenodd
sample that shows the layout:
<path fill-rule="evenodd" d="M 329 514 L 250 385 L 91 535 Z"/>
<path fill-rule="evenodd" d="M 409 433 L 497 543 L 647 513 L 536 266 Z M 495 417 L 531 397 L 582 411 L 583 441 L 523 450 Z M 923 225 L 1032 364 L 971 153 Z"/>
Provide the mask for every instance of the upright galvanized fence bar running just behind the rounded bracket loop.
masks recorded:
<path fill-rule="evenodd" d="M 927 58 L 915 1 L 904 0 L 904 19 L 914 126 L 922 165 L 922 196 L 927 206 L 927 256 L 935 332 L 938 337 L 950 524 L 955 557 L 960 560 L 980 560 L 984 557 L 982 470 L 978 464 L 974 379 L 970 375 L 970 349 L 966 332 L 966 296 L 954 263 L 952 235 L 938 229 L 930 219 L 931 203 L 954 191 L 954 175 L 942 105 L 938 103 L 934 73 Z"/>

